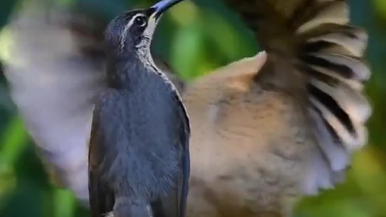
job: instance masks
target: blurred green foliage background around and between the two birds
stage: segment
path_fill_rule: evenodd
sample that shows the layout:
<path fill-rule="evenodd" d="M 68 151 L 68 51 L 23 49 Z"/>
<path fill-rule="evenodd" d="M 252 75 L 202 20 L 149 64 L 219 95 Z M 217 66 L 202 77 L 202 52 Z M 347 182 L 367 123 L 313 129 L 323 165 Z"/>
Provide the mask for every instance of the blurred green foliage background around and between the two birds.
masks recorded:
<path fill-rule="evenodd" d="M 113 17 L 151 0 L 52 0 L 61 4 L 89 5 L 90 13 Z M 7 22 L 21 0 L 0 2 L 0 63 L 12 32 Z M 374 106 L 369 121 L 368 146 L 353 156 L 347 181 L 318 197 L 302 200 L 296 216 L 386 217 L 386 0 L 350 0 L 352 21 L 370 35 L 367 59 L 372 79 L 367 93 Z M 84 8 L 83 8 L 84 9 Z M 186 1 L 172 8 L 157 30 L 154 52 L 186 80 L 259 51 L 236 14 L 219 0 Z M 33 82 L 33 81 L 31 81 Z M 0 217 L 87 217 L 74 195 L 54 186 L 24 130 L 15 106 L 0 78 Z"/>

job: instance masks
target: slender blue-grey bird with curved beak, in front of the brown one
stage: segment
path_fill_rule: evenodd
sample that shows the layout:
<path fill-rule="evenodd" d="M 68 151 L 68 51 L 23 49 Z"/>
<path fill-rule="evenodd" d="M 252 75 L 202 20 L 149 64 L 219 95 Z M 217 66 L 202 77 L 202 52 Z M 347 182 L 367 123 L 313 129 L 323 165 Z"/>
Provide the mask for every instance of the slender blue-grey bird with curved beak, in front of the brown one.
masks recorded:
<path fill-rule="evenodd" d="M 161 15 L 178 2 L 125 12 L 107 26 L 107 88 L 93 109 L 88 157 L 93 217 L 185 216 L 189 119 L 150 53 Z"/>

